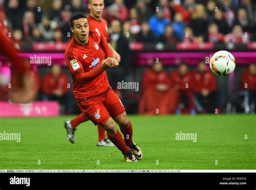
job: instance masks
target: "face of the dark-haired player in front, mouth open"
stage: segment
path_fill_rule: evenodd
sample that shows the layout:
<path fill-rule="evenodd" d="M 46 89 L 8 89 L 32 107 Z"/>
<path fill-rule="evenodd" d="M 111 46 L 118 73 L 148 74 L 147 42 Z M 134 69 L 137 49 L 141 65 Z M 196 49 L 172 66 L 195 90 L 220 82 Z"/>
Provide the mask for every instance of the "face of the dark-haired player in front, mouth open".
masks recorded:
<path fill-rule="evenodd" d="M 78 44 L 85 45 L 88 43 L 89 24 L 86 18 L 79 18 L 73 21 L 74 27 L 71 31 L 75 34 Z"/>

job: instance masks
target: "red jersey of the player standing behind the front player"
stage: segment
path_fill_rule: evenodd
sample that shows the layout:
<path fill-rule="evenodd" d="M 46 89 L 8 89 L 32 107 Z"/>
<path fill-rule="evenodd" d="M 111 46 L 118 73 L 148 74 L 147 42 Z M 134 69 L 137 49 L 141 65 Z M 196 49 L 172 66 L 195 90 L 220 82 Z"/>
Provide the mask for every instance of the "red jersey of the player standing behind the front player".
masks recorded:
<path fill-rule="evenodd" d="M 90 31 L 97 31 L 103 34 L 107 43 L 109 43 L 109 33 L 107 32 L 107 22 L 104 18 L 96 20 L 91 15 L 87 17 Z"/>

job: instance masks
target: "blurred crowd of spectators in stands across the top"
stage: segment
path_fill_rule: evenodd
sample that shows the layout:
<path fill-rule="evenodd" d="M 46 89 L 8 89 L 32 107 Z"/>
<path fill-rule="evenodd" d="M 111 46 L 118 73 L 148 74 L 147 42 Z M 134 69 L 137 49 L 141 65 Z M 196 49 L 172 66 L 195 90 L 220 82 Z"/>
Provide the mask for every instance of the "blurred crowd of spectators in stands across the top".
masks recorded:
<path fill-rule="evenodd" d="M 176 43 L 256 41 L 251 0 L 105 0 L 103 18 L 118 19 L 127 40 Z M 89 13 L 88 0 L 5 0 L 4 10 L 17 41 L 70 40 L 72 13 Z M 110 28 L 111 32 L 111 28 Z"/>

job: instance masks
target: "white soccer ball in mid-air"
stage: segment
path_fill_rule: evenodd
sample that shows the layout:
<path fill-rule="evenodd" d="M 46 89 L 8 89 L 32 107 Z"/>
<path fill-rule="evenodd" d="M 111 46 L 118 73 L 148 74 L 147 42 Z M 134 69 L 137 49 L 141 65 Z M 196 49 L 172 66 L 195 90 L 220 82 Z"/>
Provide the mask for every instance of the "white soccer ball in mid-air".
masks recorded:
<path fill-rule="evenodd" d="M 235 68 L 235 58 L 230 52 L 218 51 L 210 60 L 210 68 L 217 76 L 230 75 Z"/>

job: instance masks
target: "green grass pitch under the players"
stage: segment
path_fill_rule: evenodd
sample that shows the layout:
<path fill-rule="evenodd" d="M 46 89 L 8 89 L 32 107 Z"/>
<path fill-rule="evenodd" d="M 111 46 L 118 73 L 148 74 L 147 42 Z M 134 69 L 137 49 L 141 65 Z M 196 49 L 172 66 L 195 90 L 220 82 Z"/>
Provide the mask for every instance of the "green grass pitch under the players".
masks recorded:
<path fill-rule="evenodd" d="M 21 142 L 0 140 L 0 169 L 31 170 L 241 170 L 256 169 L 255 115 L 129 116 L 144 159 L 126 163 L 116 147 L 97 147 L 97 128 L 78 126 L 75 144 L 63 121 L 75 116 L 0 118 L 0 133 L 21 133 Z M 176 133 L 197 133 L 197 142 Z"/>

